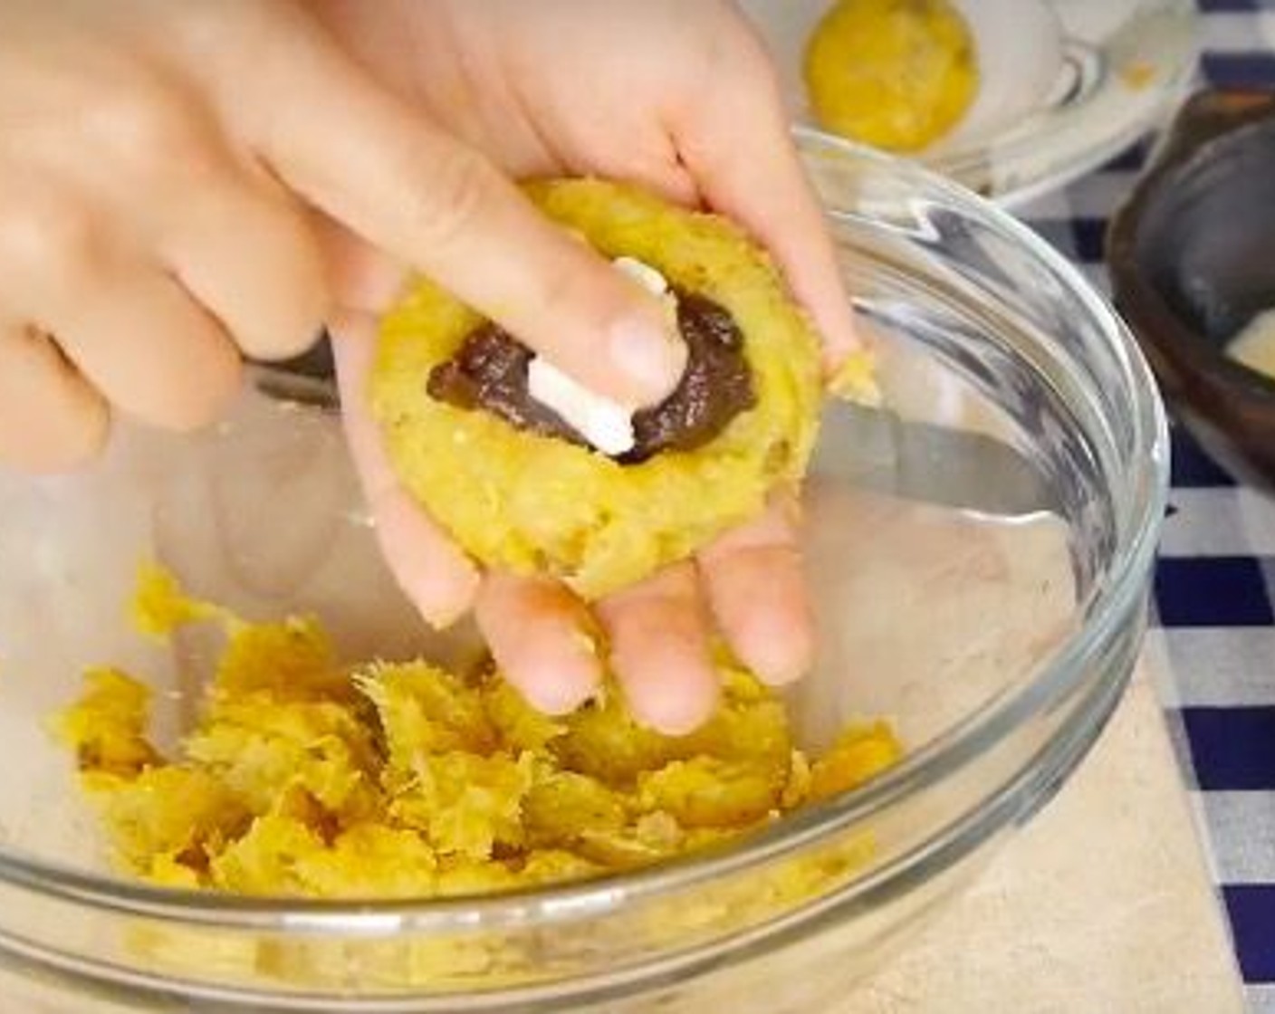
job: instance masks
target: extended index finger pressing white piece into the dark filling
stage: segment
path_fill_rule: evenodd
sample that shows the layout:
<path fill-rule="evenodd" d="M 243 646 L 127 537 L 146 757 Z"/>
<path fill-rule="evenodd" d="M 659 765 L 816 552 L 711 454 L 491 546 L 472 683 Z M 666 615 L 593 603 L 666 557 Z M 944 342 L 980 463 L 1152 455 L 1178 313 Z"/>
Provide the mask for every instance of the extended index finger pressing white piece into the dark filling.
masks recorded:
<path fill-rule="evenodd" d="M 309 34 L 254 136 L 288 185 L 599 394 L 649 404 L 677 385 L 686 348 L 662 304 Z"/>

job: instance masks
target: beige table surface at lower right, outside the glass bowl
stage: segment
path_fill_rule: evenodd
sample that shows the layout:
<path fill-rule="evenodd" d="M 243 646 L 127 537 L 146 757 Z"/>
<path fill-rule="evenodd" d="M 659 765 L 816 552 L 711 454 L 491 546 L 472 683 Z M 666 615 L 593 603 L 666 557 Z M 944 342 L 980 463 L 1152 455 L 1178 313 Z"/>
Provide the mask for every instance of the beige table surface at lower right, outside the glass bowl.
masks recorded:
<path fill-rule="evenodd" d="M 1232 1014 L 1233 952 L 1144 670 L 1072 781 L 827 1014 Z"/>

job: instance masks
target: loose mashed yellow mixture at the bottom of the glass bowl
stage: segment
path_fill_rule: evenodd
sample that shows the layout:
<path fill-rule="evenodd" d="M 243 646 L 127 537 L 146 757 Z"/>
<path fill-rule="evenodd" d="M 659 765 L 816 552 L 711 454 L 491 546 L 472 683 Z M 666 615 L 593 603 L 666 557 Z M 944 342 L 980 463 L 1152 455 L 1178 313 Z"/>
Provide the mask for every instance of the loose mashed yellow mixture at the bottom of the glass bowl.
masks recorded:
<path fill-rule="evenodd" d="M 194 728 L 164 756 L 150 693 L 113 668 L 54 722 L 120 866 L 258 895 L 427 898 L 576 880 L 737 838 L 900 756 L 885 723 L 811 760 L 784 705 L 720 659 L 720 712 L 672 738 L 607 690 L 551 719 L 487 671 L 343 666 L 312 619 L 249 624 L 144 569 L 134 619 L 226 645 Z"/>

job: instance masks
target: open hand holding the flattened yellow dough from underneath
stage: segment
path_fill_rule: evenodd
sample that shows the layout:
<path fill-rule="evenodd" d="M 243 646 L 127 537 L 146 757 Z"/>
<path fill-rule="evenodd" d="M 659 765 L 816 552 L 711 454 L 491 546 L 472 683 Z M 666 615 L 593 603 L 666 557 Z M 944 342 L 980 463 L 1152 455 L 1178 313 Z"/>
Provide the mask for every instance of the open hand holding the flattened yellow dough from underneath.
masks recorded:
<path fill-rule="evenodd" d="M 371 73 L 511 177 L 629 180 L 731 216 L 775 255 L 820 325 L 830 364 L 854 346 L 770 66 L 729 4 L 328 0 L 319 10 Z M 546 710 L 569 710 L 599 679 L 599 661 L 579 635 L 585 608 L 553 582 L 479 575 L 399 487 L 362 406 L 375 316 L 402 272 L 361 244 L 343 251 L 347 302 L 335 327 L 343 403 L 386 556 L 426 616 L 445 621 L 477 606 L 509 679 Z M 527 263 L 516 246 L 493 253 L 510 255 Z M 571 312 L 579 291 L 583 282 L 543 305 L 547 325 Z M 794 510 L 778 500 L 696 560 L 598 603 L 611 663 L 638 716 L 678 732 L 709 714 L 714 622 L 768 681 L 808 668 L 813 631 Z"/>

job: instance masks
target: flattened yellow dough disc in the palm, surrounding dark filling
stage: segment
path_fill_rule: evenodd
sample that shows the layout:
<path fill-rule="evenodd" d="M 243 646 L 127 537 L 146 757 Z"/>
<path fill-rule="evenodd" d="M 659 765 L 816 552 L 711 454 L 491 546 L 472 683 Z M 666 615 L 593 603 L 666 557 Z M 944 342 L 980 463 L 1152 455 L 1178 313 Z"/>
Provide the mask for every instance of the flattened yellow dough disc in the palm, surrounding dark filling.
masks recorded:
<path fill-rule="evenodd" d="M 486 323 L 439 287 L 417 282 L 385 316 L 370 398 L 400 481 L 482 564 L 550 574 L 592 599 L 692 555 L 805 474 L 819 342 L 770 260 L 725 219 L 598 180 L 528 193 L 603 256 L 640 260 L 674 293 L 725 310 L 751 375 L 751 407 L 708 443 L 621 463 L 432 397 L 431 372 Z"/>

